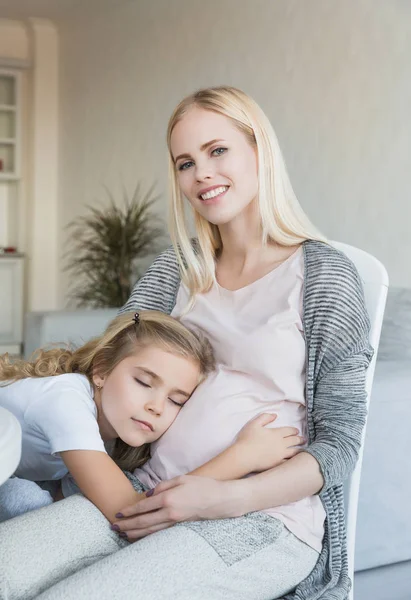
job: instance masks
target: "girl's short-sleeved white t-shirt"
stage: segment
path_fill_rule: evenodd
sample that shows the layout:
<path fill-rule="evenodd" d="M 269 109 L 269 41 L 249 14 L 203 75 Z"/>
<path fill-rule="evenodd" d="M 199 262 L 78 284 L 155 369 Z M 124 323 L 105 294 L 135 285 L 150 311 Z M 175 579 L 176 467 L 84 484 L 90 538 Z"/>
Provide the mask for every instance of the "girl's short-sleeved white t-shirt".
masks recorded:
<path fill-rule="evenodd" d="M 17 477 L 31 481 L 61 479 L 67 468 L 59 452 L 106 452 L 93 390 L 85 375 L 29 377 L 0 384 L 0 406 L 12 412 L 22 428 Z"/>

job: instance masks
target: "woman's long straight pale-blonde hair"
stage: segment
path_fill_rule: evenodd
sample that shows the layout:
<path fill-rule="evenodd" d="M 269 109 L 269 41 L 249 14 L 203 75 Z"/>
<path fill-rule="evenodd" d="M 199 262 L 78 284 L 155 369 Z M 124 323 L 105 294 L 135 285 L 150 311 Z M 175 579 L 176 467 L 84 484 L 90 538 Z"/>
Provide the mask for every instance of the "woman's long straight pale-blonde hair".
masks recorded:
<path fill-rule="evenodd" d="M 221 250 L 218 227 L 194 213 L 199 251 L 190 241 L 184 197 L 171 152 L 171 134 L 193 107 L 228 117 L 255 147 L 258 157 L 258 206 L 262 241 L 294 246 L 305 240 L 326 242 L 305 215 L 292 189 L 274 129 L 259 105 L 244 92 L 228 86 L 206 88 L 187 96 L 175 108 L 167 129 L 170 185 L 170 235 L 179 261 L 181 277 L 191 292 L 210 289 L 215 280 L 215 258 Z"/>

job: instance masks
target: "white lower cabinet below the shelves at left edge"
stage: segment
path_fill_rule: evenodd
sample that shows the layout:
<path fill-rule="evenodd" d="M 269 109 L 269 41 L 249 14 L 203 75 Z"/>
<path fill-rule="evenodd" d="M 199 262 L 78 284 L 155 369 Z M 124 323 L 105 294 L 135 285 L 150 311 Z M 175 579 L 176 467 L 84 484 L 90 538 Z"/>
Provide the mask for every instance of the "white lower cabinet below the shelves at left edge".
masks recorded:
<path fill-rule="evenodd" d="M 20 354 L 23 342 L 23 256 L 0 256 L 0 354 Z"/>

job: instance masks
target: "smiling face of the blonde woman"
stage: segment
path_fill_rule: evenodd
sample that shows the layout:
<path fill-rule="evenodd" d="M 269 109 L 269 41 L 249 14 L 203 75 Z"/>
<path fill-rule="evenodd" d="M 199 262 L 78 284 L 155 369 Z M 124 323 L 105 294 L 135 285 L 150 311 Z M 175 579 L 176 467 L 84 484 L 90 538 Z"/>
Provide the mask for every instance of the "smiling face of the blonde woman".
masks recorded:
<path fill-rule="evenodd" d="M 172 131 L 171 153 L 183 194 L 210 223 L 230 223 L 257 198 L 255 148 L 229 118 L 191 108 Z"/>

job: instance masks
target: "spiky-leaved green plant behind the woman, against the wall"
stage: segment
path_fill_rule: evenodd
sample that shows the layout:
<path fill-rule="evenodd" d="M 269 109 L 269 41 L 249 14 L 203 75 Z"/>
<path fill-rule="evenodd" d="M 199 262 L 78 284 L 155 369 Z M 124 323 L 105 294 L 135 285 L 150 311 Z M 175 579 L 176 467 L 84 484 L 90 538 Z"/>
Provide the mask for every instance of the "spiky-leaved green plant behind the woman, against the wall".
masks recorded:
<path fill-rule="evenodd" d="M 124 193 L 123 206 L 107 193 L 108 206 L 88 206 L 88 214 L 67 226 L 65 270 L 72 276 L 70 300 L 78 307 L 122 306 L 142 275 L 141 259 L 158 252 L 165 241 L 152 210 L 158 200 L 153 187 L 142 193 L 137 185 L 131 198 Z"/>

